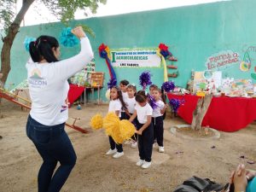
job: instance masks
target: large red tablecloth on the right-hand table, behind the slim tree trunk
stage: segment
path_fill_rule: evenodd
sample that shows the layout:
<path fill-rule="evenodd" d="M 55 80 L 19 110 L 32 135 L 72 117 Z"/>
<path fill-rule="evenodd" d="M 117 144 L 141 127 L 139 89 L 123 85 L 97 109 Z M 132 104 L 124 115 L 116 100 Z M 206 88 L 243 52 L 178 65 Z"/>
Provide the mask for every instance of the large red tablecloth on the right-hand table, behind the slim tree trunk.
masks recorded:
<path fill-rule="evenodd" d="M 192 123 L 193 111 L 199 96 L 177 96 L 167 94 L 168 99 L 184 99 L 177 114 L 189 124 Z M 209 125 L 218 131 L 238 131 L 245 128 L 256 119 L 256 99 L 242 97 L 212 97 L 212 102 L 202 121 L 202 125 Z"/>

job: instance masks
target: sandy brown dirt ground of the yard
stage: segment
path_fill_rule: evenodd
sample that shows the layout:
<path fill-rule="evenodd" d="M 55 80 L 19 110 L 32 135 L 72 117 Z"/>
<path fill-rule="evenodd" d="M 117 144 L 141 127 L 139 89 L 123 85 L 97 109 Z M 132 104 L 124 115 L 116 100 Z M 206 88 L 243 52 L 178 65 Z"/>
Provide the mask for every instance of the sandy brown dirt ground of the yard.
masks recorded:
<path fill-rule="evenodd" d="M 42 163 L 36 148 L 26 137 L 28 111 L 3 101 L 0 106 L 0 191 L 37 191 L 37 174 Z M 166 152 L 153 151 L 153 165 L 147 170 L 137 167 L 137 148 L 124 145 L 125 155 L 113 159 L 108 151 L 108 137 L 103 130 L 90 129 L 90 118 L 98 112 L 106 114 L 108 105 L 87 104 L 70 109 L 70 117 L 79 117 L 76 124 L 89 134 L 66 128 L 78 156 L 77 164 L 62 188 L 62 192 L 87 191 L 173 191 L 183 180 L 195 175 L 226 183 L 230 172 L 239 164 L 256 170 L 256 124 L 241 131 L 220 132 L 219 139 L 183 138 L 171 133 L 173 125 L 184 124 L 167 113 L 164 145 Z M 72 122 L 72 119 L 69 120 Z M 215 148 L 212 148 L 215 146 Z M 244 155 L 245 158 L 240 158 Z"/>

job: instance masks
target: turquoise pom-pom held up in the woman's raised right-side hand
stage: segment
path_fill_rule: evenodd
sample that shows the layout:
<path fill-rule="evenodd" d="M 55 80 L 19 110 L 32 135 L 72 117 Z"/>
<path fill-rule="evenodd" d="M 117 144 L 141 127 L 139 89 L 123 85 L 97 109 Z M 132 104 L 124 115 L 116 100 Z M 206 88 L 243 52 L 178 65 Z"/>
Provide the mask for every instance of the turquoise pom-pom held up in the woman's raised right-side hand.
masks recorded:
<path fill-rule="evenodd" d="M 71 27 L 63 28 L 61 31 L 60 43 L 65 47 L 73 47 L 79 44 L 79 38 L 77 38 L 71 31 Z"/>

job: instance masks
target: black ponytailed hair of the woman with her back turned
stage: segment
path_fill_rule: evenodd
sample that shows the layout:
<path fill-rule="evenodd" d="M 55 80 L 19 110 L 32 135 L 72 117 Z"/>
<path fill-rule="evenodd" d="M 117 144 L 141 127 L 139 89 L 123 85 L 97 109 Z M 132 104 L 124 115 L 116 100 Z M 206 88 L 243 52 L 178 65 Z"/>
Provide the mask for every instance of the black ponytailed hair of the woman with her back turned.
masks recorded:
<path fill-rule="evenodd" d="M 29 53 L 34 62 L 40 62 L 43 59 L 47 62 L 55 62 L 58 59 L 52 49 L 57 49 L 58 47 L 59 43 L 56 38 L 43 35 L 29 44 Z"/>

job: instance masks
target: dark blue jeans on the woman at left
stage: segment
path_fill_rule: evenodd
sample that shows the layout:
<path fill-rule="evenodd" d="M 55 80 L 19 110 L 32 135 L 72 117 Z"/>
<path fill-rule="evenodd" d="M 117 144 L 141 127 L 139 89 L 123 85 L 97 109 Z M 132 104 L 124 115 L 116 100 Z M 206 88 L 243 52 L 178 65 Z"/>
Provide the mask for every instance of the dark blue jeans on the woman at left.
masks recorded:
<path fill-rule="evenodd" d="M 44 160 L 38 172 L 38 192 L 60 191 L 76 163 L 77 156 L 64 127 L 65 123 L 42 125 L 28 116 L 26 135 Z M 55 171 L 58 161 L 61 166 Z"/>

